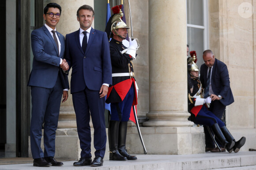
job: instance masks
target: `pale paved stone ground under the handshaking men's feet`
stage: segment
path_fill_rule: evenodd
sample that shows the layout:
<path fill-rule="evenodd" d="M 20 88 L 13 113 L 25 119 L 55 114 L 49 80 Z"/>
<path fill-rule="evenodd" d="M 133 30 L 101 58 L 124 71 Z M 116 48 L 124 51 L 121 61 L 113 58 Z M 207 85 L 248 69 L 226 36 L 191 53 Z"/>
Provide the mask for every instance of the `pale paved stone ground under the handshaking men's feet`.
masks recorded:
<path fill-rule="evenodd" d="M 256 152 L 211 153 L 195 155 L 137 155 L 136 161 L 105 160 L 101 167 L 73 166 L 74 161 L 63 161 L 64 166 L 34 167 L 33 159 L 23 158 L 19 163 L 0 165 L 0 170 L 256 170 Z M 7 160 L 7 159 L 6 159 Z M 10 163 L 11 162 L 11 159 Z M 0 159 L 1 163 L 3 160 Z M 23 162 L 24 161 L 24 162 Z M 224 169 L 221 169 L 224 170 Z"/>

